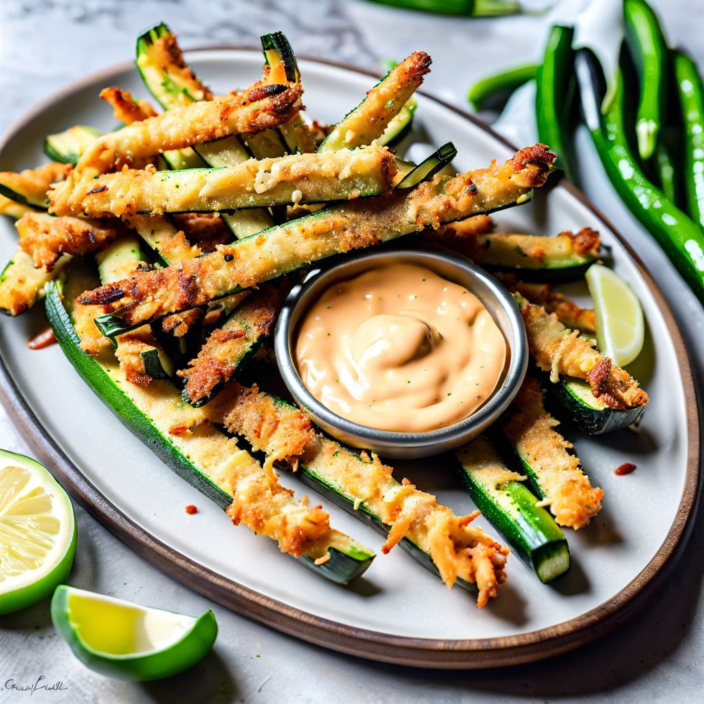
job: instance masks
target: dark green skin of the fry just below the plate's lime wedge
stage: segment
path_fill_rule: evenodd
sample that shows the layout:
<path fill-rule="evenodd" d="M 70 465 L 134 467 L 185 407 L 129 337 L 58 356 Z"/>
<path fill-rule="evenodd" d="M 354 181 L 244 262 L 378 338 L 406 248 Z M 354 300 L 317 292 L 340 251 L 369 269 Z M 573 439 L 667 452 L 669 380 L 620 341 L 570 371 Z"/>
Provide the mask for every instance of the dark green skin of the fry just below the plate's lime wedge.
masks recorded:
<path fill-rule="evenodd" d="M 578 386 L 586 387 L 582 393 L 589 391 L 589 385 L 580 379 L 560 379 L 557 384 L 547 382 L 545 384 L 551 397 L 558 403 L 570 417 L 570 420 L 580 430 L 589 435 L 599 435 L 621 430 L 639 422 L 643 415 L 645 406 L 638 408 L 627 408 L 626 410 L 614 410 L 608 406 L 604 408 L 594 408 L 586 403 L 577 389 Z M 594 399 L 595 403 L 596 398 Z"/>

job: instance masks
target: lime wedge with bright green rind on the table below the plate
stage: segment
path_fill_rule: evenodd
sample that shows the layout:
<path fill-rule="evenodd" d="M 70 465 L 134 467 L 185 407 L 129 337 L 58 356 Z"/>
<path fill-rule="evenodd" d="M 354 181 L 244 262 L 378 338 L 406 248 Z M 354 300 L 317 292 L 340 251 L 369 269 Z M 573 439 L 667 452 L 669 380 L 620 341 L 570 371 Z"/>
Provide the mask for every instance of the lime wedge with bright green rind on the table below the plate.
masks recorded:
<path fill-rule="evenodd" d="M 51 620 L 79 660 L 117 679 L 162 679 L 187 670 L 218 634 L 212 611 L 184 616 L 65 584 L 54 592 Z"/>

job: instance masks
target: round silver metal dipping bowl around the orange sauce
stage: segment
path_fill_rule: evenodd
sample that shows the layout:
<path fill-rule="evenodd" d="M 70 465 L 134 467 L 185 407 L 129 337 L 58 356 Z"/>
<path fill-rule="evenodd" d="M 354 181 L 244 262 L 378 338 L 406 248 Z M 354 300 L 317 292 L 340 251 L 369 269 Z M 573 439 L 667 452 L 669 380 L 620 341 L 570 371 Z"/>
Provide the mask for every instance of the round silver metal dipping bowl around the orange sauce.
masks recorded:
<path fill-rule="evenodd" d="M 391 432 L 359 425 L 333 413 L 306 389 L 296 366 L 298 323 L 311 304 L 332 284 L 350 279 L 382 264 L 423 265 L 441 277 L 474 293 L 503 332 L 508 348 L 503 375 L 494 394 L 472 415 L 446 427 L 427 432 Z M 525 327 L 513 296 L 490 274 L 467 258 L 444 249 L 417 244 L 415 249 L 375 249 L 337 258 L 314 268 L 289 294 L 275 330 L 279 371 L 292 396 L 313 420 L 333 437 L 357 448 L 389 458 L 420 458 L 456 448 L 488 428 L 513 400 L 526 373 L 528 343 Z"/>

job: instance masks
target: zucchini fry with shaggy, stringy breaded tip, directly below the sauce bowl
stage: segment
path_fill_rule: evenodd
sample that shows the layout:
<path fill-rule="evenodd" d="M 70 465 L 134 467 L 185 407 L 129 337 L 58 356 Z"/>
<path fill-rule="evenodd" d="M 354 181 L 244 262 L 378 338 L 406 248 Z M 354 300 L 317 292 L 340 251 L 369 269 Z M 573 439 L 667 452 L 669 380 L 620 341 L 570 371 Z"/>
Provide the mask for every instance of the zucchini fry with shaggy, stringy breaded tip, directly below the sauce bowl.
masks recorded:
<path fill-rule="evenodd" d="M 310 418 L 256 387 L 231 382 L 203 410 L 212 422 L 244 437 L 268 463 L 294 468 L 304 482 L 353 515 L 370 519 L 387 535 L 382 552 L 401 544 L 446 586 L 455 582 L 479 590 L 477 605 L 496 596 L 505 581 L 508 550 L 470 522 L 478 515 L 456 516 L 432 494 L 404 480 L 376 456 L 358 455 L 316 434 Z M 265 465 L 266 466 L 266 465 Z"/>

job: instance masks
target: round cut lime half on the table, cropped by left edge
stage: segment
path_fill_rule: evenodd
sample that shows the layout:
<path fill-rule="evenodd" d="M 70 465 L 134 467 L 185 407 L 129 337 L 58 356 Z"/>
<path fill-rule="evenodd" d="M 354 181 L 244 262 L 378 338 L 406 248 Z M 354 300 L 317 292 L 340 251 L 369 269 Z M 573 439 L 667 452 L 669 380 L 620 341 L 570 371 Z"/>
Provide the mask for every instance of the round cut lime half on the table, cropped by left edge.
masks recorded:
<path fill-rule="evenodd" d="M 76 551 L 70 498 L 46 467 L 0 450 L 0 614 L 65 582 Z"/>

